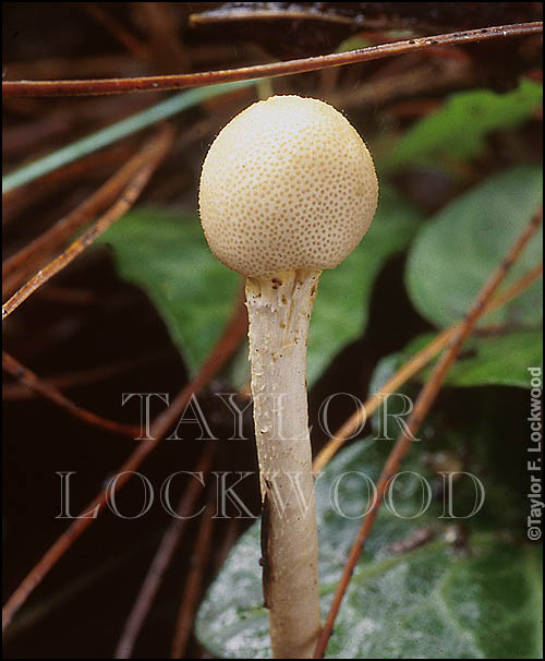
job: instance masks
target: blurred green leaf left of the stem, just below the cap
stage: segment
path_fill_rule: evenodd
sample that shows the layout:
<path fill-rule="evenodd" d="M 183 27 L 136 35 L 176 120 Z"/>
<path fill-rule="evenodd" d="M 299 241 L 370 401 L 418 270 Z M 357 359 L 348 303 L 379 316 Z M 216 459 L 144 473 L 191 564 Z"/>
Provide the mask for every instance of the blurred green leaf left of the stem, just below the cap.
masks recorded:
<path fill-rule="evenodd" d="M 195 373 L 232 314 L 240 276 L 211 254 L 194 215 L 133 211 L 101 242 L 114 248 L 120 275 L 148 295 Z"/>

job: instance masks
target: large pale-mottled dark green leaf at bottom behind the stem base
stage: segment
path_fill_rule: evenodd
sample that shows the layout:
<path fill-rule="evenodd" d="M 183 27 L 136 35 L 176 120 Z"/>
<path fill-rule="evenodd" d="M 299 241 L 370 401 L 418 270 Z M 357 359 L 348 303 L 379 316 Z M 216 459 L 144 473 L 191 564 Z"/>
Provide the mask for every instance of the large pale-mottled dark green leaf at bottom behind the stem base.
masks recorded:
<path fill-rule="evenodd" d="M 361 522 L 348 517 L 360 516 L 367 505 L 361 473 L 376 481 L 388 449 L 385 445 L 389 444 L 367 440 L 349 447 L 317 482 L 324 613 Z M 414 456 L 403 468 L 429 479 Z M 344 516 L 332 507 L 336 481 Z M 421 485 L 411 476 L 400 483 L 395 502 L 398 512 L 411 516 L 421 498 Z M 380 509 L 343 600 L 327 658 L 541 658 L 538 550 L 479 532 L 470 537 L 467 551 L 457 552 L 441 533 L 444 521 L 435 507 L 413 519 Z M 391 549 L 392 542 L 428 527 L 437 531 L 434 541 L 405 552 Z M 216 657 L 270 658 L 259 554 L 256 524 L 242 536 L 201 606 L 196 633 Z"/>

